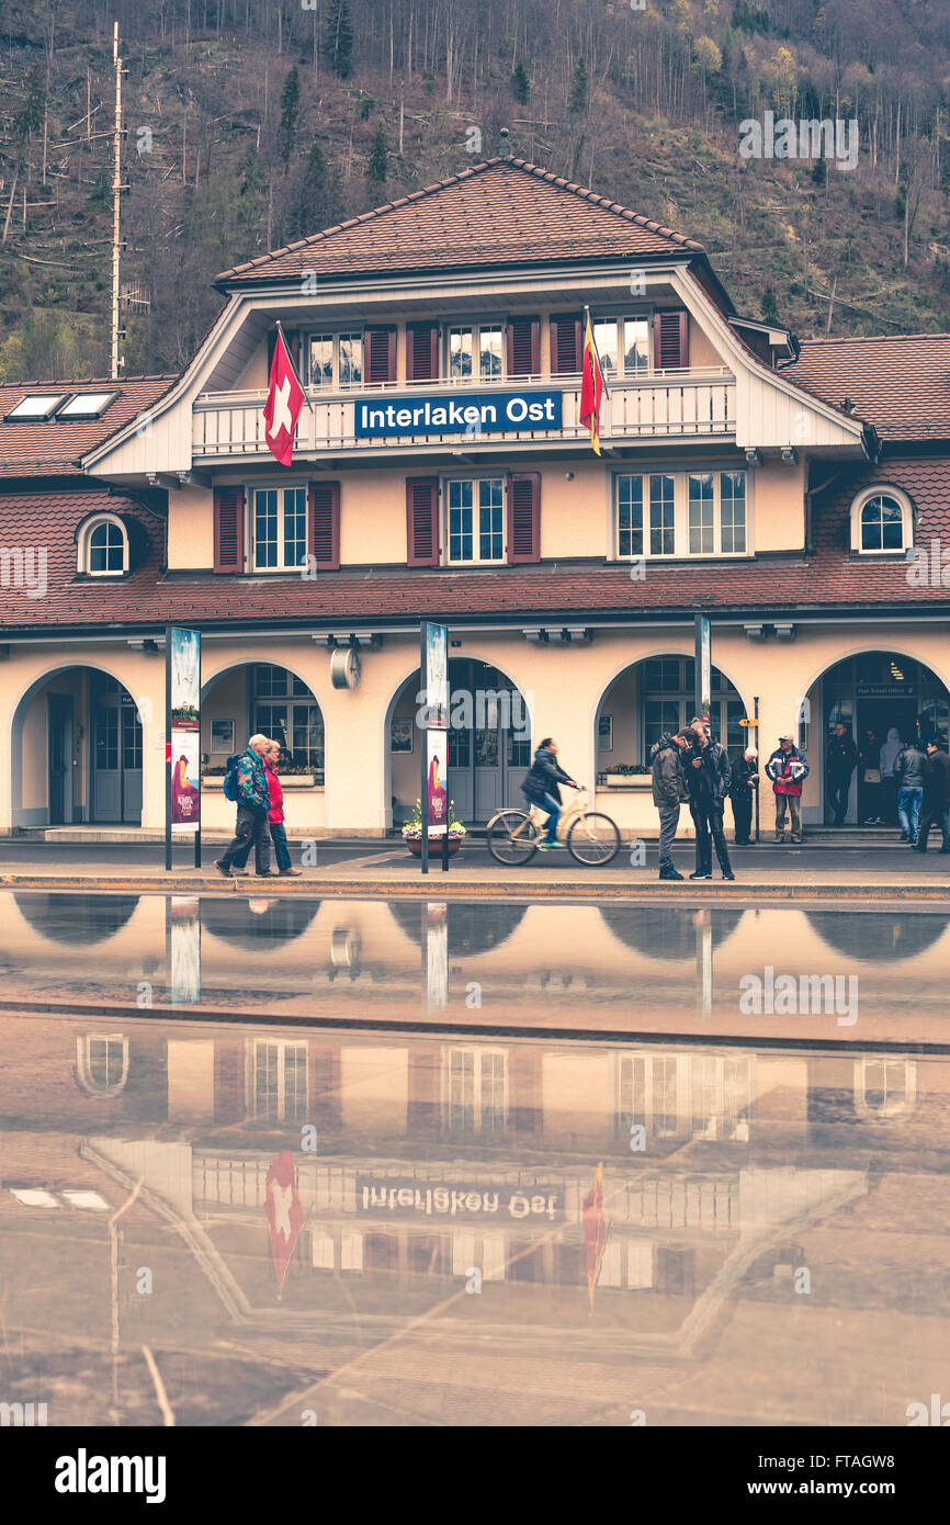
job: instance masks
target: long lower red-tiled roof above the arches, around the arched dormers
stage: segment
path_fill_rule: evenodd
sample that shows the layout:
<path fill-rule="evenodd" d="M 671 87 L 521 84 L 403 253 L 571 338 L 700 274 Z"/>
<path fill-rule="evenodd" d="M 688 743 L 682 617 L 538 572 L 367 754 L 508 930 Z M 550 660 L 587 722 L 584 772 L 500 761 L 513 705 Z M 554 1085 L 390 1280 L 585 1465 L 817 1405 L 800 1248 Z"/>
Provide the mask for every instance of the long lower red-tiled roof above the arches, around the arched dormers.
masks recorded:
<path fill-rule="evenodd" d="M 855 560 L 849 554 L 849 505 L 872 482 L 907 491 L 916 508 L 916 541 L 950 541 L 950 461 L 900 461 L 852 467 L 834 483 L 834 497 L 814 502 L 811 557 L 761 555 L 753 561 L 685 566 L 648 563 L 643 581 L 625 566 L 596 561 L 544 563 L 480 572 L 413 572 L 398 567 L 326 572 L 314 581 L 282 578 L 162 576 L 162 526 L 145 515 L 146 563 L 122 583 L 75 581 L 73 534 L 88 512 L 108 508 L 142 515 L 134 503 L 101 493 L 37 493 L 0 497 L 0 544 L 47 546 L 49 592 L 30 599 L 5 589 L 0 624 L 8 628 L 148 625 L 165 621 L 235 624 L 299 619 L 303 625 L 419 616 L 509 615 L 526 624 L 552 616 L 715 610 L 862 608 L 874 604 L 947 604 L 941 587 L 910 589 L 903 560 Z M 345 509 L 346 511 L 346 509 Z"/>

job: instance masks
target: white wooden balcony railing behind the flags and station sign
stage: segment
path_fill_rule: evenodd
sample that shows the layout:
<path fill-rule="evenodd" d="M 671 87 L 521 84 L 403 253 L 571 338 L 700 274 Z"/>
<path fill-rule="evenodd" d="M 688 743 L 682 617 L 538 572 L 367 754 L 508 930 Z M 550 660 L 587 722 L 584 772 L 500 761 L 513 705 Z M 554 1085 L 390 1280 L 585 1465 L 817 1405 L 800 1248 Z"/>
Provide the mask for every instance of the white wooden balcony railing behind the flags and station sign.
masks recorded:
<path fill-rule="evenodd" d="M 438 396 L 448 401 L 467 393 L 560 392 L 560 429 L 518 429 L 517 433 L 459 433 L 457 430 L 358 438 L 357 403 L 387 404 L 395 398 Z M 511 377 L 503 381 L 393 381 L 386 386 L 352 387 L 343 392 L 311 389 L 311 407 L 297 421 L 297 453 L 363 454 L 410 447 L 413 453 L 473 445 L 570 444 L 587 439 L 579 421 L 579 377 Z M 194 404 L 195 459 L 233 456 L 265 459 L 262 409 L 267 392 L 206 392 Z M 720 439 L 735 433 L 735 377 L 724 368 L 708 371 L 654 371 L 610 383 L 601 406 L 601 439 Z"/>

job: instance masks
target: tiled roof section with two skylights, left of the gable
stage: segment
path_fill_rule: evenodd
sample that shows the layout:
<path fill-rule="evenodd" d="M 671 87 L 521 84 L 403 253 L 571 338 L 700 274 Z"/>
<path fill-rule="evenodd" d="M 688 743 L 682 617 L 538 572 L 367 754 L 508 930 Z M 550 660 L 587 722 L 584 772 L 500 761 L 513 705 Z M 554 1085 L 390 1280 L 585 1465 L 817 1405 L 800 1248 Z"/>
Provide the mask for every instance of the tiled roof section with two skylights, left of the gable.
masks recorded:
<path fill-rule="evenodd" d="M 0 386 L 0 477 L 79 474 L 79 458 L 128 424 L 168 392 L 175 377 L 122 377 L 119 381 L 17 381 Z M 50 418 L 5 424 L 6 415 L 34 392 L 117 392 L 102 418 Z"/>

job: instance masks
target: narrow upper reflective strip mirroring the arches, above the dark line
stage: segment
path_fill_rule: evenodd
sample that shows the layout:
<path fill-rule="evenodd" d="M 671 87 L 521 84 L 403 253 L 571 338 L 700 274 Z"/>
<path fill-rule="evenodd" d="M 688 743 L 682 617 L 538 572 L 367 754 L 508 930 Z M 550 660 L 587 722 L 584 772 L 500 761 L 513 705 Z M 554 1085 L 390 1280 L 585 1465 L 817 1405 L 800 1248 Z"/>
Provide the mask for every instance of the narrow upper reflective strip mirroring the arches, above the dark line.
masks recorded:
<path fill-rule="evenodd" d="M 944 1043 L 927 910 L 0 894 L 0 1006 Z"/>

